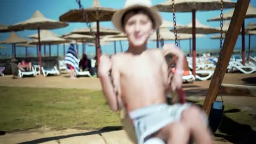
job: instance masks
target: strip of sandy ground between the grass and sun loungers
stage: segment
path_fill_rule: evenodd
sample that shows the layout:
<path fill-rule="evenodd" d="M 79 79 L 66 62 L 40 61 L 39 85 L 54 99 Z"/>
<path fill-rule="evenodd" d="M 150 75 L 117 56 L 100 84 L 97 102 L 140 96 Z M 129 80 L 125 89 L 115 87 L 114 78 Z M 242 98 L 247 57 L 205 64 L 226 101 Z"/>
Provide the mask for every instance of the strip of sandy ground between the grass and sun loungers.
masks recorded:
<path fill-rule="evenodd" d="M 193 84 L 184 84 L 185 89 L 191 88 L 208 88 L 211 80 L 195 81 Z M 223 83 L 236 85 L 254 85 L 256 86 L 256 73 L 239 74 L 227 73 Z M 19 86 L 19 87 L 45 87 L 45 88 L 85 88 L 92 90 L 101 90 L 101 84 L 96 77 L 79 77 L 70 79 L 67 73 L 59 76 L 13 78 L 12 75 L 0 77 L 1 86 Z"/>

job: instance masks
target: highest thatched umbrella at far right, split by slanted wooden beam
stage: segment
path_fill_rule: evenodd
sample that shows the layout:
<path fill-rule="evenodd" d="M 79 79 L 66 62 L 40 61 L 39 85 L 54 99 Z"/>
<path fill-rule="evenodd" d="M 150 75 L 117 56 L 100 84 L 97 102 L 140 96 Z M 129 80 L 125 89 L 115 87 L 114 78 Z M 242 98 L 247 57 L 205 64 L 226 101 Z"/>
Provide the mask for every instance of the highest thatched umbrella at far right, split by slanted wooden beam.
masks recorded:
<path fill-rule="evenodd" d="M 235 11 L 235 8 L 232 8 L 232 10 L 228 11 L 227 13 L 223 13 L 223 19 L 224 20 L 232 19 L 234 11 Z M 252 5 L 249 5 L 246 11 L 245 18 L 255 18 L 255 17 L 256 17 L 256 8 L 254 8 Z M 208 19 L 207 21 L 219 21 L 219 20 L 220 20 L 220 17 L 216 16 L 212 19 Z M 243 65 L 245 65 L 245 23 L 244 22 L 242 25 L 242 59 L 243 59 Z"/>

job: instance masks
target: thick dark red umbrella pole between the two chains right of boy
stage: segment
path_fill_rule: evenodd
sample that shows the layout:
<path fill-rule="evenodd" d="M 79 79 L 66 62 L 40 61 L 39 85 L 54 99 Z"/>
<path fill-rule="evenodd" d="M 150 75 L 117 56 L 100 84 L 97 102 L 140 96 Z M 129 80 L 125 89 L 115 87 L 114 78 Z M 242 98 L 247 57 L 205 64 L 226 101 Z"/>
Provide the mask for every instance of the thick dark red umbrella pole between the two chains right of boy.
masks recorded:
<path fill-rule="evenodd" d="M 195 33 L 196 33 L 196 29 L 195 29 L 195 9 L 192 10 L 192 43 L 193 43 L 193 72 L 192 74 L 195 77 L 195 54 L 196 54 L 196 42 L 195 42 Z"/>

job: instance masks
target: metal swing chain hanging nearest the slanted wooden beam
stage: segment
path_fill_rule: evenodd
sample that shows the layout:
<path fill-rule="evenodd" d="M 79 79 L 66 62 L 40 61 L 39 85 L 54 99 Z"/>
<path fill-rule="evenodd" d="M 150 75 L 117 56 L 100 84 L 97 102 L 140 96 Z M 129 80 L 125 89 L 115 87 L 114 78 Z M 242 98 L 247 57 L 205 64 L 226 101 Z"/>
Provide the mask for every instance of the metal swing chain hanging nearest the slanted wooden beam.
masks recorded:
<path fill-rule="evenodd" d="M 220 61 L 220 63 L 219 63 L 219 93 L 220 93 L 220 91 L 221 91 L 221 75 L 222 75 L 222 64 L 221 64 L 221 62 L 222 62 L 222 51 L 221 51 L 221 49 L 222 49 L 222 41 L 223 41 L 223 37 L 222 37 L 222 34 L 223 34 L 223 31 L 222 31 L 222 27 L 223 27 L 223 0 L 221 0 L 221 14 L 220 14 L 220 17 L 221 17 L 221 21 L 220 21 L 220 34 L 221 34 L 221 36 L 220 36 L 220 45 L 219 45 L 219 61 Z M 222 99 L 222 96 L 221 96 L 221 101 L 223 101 L 223 99 Z"/>

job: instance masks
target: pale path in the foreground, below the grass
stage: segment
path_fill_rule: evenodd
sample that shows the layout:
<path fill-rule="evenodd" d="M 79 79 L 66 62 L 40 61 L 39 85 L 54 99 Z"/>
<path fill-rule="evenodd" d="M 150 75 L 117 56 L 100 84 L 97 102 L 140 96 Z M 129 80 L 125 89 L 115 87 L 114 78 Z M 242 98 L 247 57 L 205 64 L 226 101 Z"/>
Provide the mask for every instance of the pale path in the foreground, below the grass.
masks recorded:
<path fill-rule="evenodd" d="M 0 144 L 134 144 L 125 131 L 29 130 L 0 136 Z M 214 144 L 232 144 L 216 141 Z"/>

